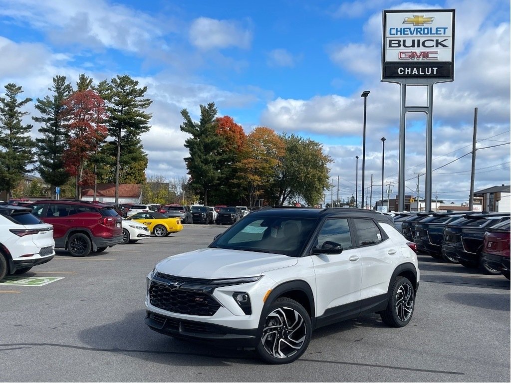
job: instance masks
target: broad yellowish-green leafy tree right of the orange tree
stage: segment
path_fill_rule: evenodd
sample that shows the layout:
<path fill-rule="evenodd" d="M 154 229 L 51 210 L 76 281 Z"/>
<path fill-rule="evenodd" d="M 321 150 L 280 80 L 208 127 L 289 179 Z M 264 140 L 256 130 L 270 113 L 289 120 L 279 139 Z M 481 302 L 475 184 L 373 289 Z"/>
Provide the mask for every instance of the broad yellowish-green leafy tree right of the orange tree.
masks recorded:
<path fill-rule="evenodd" d="M 277 167 L 271 190 L 284 204 L 289 198 L 303 198 L 307 205 L 314 206 L 323 199 L 323 189 L 329 185 L 328 164 L 332 159 L 323 154 L 323 146 L 310 138 L 294 134 L 281 135 L 286 151 Z"/>

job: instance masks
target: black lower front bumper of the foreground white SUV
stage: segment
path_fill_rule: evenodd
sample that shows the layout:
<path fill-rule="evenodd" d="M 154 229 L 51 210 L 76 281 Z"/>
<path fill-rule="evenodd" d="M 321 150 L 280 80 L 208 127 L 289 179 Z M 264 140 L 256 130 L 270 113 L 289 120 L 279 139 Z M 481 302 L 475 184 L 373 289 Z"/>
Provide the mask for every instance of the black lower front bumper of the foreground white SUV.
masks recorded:
<path fill-rule="evenodd" d="M 146 312 L 145 323 L 154 331 L 176 338 L 222 344 L 225 346 L 255 348 L 259 329 L 239 329 L 212 323 L 194 322 Z"/>

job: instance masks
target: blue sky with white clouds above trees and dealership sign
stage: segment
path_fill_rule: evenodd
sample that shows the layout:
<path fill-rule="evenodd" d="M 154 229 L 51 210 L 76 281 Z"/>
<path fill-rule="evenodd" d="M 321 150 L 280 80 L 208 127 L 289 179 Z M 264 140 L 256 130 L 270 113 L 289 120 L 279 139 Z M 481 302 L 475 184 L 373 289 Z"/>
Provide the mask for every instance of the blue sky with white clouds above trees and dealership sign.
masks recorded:
<path fill-rule="evenodd" d="M 368 90 L 365 195 L 372 175 L 374 204 L 381 137 L 385 195 L 389 183 L 390 197 L 398 192 L 400 86 L 381 82 L 382 13 L 414 9 L 456 10 L 454 81 L 433 90 L 432 200 L 467 202 L 475 108 L 475 190 L 511 178 L 510 9 L 502 0 L 0 0 L 0 94 L 7 83 L 22 86 L 34 100 L 25 110 L 38 116 L 35 100 L 51 94 L 56 75 L 73 85 L 82 73 L 96 84 L 131 76 L 153 100 L 151 129 L 141 136 L 146 174 L 169 180 L 187 175 L 181 110 L 198 121 L 199 106 L 214 102 L 218 116 L 233 117 L 246 134 L 267 126 L 320 142 L 333 160 L 329 202 L 356 189 L 361 198 L 360 96 Z M 407 105 L 425 100 L 424 87 L 407 91 Z M 416 196 L 418 179 L 421 198 L 425 152 L 425 114 L 408 113 L 405 192 Z"/>

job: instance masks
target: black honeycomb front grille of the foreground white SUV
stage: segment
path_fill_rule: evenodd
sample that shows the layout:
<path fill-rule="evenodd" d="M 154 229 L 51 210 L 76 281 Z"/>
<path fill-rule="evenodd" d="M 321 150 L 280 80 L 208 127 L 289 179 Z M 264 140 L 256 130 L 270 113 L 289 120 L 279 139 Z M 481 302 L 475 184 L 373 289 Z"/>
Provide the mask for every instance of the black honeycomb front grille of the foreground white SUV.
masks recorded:
<path fill-rule="evenodd" d="M 211 295 L 173 284 L 152 282 L 149 297 L 153 306 L 178 314 L 213 316 L 220 308 L 220 304 Z"/>

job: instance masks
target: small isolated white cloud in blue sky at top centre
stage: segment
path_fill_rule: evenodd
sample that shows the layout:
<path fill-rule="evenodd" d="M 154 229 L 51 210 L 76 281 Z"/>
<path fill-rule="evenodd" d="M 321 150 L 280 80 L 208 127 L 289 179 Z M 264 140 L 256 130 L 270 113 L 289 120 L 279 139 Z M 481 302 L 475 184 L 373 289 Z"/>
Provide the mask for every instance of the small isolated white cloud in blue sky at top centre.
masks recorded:
<path fill-rule="evenodd" d="M 229 46 L 247 49 L 251 41 L 252 32 L 238 21 L 199 17 L 190 27 L 190 42 L 201 50 Z"/>

